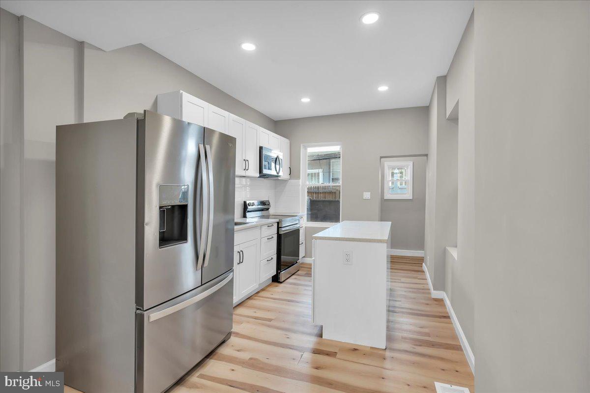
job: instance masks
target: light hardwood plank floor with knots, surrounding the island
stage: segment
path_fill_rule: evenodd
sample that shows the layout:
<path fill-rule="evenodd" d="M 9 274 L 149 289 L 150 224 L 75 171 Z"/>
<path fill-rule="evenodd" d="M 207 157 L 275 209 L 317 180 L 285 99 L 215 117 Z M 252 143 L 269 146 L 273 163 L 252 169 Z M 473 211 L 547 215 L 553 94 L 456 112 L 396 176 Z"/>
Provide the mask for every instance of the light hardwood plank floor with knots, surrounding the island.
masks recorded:
<path fill-rule="evenodd" d="M 387 349 L 323 339 L 311 321 L 311 266 L 303 265 L 238 305 L 231 339 L 169 392 L 435 392 L 434 381 L 473 392 L 473 374 L 444 303 L 430 297 L 421 257 L 391 257 L 390 296 Z"/>

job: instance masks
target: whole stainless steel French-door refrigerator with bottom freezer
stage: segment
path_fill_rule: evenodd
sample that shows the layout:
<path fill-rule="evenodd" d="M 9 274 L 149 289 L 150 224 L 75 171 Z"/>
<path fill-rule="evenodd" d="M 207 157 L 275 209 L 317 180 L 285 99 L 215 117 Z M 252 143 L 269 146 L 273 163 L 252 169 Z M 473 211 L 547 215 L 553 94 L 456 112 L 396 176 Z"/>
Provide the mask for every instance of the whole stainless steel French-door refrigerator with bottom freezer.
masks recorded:
<path fill-rule="evenodd" d="M 235 138 L 145 111 L 57 127 L 56 368 L 162 392 L 232 328 Z"/>

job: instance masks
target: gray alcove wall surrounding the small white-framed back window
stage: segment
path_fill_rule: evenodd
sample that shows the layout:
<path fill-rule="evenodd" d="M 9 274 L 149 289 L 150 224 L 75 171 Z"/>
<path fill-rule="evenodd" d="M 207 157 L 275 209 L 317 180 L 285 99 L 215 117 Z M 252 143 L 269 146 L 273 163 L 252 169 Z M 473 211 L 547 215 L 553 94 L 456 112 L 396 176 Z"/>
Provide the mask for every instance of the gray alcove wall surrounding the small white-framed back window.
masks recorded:
<path fill-rule="evenodd" d="M 412 199 L 384 199 L 385 163 L 412 161 Z M 424 250 L 426 203 L 426 157 L 381 158 L 379 187 L 379 221 L 391 222 L 391 245 L 394 250 Z"/>

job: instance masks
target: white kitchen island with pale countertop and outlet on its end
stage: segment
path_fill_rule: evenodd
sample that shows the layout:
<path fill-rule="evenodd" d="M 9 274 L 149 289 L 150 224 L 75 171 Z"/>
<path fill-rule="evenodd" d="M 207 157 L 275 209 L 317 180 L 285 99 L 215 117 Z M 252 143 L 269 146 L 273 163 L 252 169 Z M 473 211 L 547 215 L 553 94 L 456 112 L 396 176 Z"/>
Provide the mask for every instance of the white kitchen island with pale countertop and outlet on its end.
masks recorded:
<path fill-rule="evenodd" d="M 391 222 L 344 221 L 313 235 L 313 321 L 322 337 L 385 348 Z"/>

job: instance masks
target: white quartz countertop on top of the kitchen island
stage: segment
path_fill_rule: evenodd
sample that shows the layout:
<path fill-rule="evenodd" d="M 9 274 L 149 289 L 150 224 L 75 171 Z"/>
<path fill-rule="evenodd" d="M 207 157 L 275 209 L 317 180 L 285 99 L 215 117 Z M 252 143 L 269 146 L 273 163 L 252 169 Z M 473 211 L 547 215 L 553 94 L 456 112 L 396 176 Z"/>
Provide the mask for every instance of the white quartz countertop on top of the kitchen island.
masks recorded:
<path fill-rule="evenodd" d="M 387 243 L 390 230 L 391 222 L 388 221 L 343 221 L 316 233 L 313 239 Z"/>

